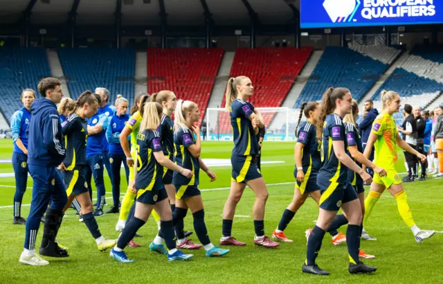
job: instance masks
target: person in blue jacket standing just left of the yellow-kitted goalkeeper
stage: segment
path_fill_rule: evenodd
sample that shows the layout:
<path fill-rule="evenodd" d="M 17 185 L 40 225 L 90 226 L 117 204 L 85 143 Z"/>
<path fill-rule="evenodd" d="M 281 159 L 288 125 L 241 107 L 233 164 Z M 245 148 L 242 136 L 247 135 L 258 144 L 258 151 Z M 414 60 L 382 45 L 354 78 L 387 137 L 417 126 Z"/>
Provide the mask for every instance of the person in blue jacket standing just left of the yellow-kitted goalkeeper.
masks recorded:
<path fill-rule="evenodd" d="M 111 163 L 112 175 L 112 198 L 114 199 L 114 206 L 112 206 L 106 213 L 118 213 L 118 204 L 120 203 L 120 168 L 125 166 L 126 183 L 129 179 L 129 168 L 126 163 L 126 155 L 123 152 L 120 144 L 120 133 L 125 128 L 129 115 L 127 112 L 127 99 L 122 95 L 117 96 L 116 109 L 114 116 L 109 118 L 109 124 L 106 130 L 106 139 L 109 143 L 109 163 Z"/>

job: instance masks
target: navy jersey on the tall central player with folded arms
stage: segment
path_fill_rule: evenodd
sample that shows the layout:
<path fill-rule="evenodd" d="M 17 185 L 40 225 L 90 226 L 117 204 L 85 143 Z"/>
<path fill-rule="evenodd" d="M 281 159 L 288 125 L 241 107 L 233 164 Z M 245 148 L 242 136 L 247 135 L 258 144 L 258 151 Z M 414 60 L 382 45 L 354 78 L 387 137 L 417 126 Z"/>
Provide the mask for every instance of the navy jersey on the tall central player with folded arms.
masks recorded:
<path fill-rule="evenodd" d="M 258 141 L 249 116 L 254 113 L 254 106 L 244 100 L 234 100 L 230 104 L 230 126 L 233 128 L 234 149 L 237 156 L 258 154 Z"/>

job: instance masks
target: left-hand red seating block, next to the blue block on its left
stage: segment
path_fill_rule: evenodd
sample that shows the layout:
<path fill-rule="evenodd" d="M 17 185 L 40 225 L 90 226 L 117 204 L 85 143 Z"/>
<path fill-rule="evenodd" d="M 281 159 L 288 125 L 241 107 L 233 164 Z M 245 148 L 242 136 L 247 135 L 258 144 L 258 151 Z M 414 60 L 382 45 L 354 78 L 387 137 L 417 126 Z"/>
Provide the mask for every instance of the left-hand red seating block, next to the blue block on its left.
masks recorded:
<path fill-rule="evenodd" d="M 174 91 L 177 99 L 192 100 L 204 118 L 223 48 L 148 48 L 147 91 Z"/>

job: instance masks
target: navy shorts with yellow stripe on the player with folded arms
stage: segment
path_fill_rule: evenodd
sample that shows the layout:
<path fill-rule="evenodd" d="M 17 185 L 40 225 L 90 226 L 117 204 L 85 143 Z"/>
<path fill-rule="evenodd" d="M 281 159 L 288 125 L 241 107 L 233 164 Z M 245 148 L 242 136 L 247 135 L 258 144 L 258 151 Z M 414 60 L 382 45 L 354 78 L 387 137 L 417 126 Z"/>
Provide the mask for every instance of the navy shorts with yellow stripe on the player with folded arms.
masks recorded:
<path fill-rule="evenodd" d="M 231 176 L 232 181 L 238 183 L 244 183 L 253 179 L 262 177 L 262 173 L 257 167 L 257 164 L 253 162 L 253 157 L 248 156 L 236 156 L 230 157 L 230 163 L 233 165 L 233 172 Z"/>

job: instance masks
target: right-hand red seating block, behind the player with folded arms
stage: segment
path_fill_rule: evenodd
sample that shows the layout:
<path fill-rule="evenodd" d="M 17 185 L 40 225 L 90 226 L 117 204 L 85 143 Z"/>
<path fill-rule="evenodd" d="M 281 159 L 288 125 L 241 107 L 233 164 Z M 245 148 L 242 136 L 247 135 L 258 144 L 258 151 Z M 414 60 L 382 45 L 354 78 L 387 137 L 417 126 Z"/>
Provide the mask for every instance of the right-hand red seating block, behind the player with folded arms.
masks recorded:
<path fill-rule="evenodd" d="M 251 103 L 255 107 L 280 107 L 294 80 L 305 66 L 314 48 L 237 48 L 230 77 L 248 76 L 254 86 Z M 225 105 L 225 98 L 221 106 Z M 264 125 L 269 125 L 274 114 L 264 114 Z M 222 133 L 229 132 L 226 115 L 219 116 Z"/>

